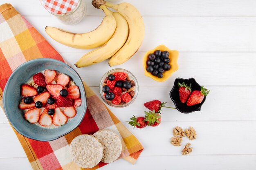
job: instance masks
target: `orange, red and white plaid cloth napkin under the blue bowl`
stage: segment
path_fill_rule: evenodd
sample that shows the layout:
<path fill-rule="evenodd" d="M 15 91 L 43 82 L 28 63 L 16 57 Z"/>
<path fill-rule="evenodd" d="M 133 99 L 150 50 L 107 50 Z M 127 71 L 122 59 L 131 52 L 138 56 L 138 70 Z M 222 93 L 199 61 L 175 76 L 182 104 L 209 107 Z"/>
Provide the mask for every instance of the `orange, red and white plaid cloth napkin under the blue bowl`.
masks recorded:
<path fill-rule="evenodd" d="M 2 91 L 11 73 L 20 64 L 40 57 L 64 61 L 61 55 L 38 31 L 18 13 L 11 4 L 0 6 L 0 106 Z M 84 83 L 88 109 L 82 123 L 69 134 L 54 141 L 42 142 L 16 133 L 34 170 L 81 170 L 70 158 L 69 144 L 81 134 L 93 134 L 99 129 L 115 131 L 122 139 L 123 150 L 119 158 L 135 163 L 144 149 L 137 138 L 115 117 Z M 91 169 L 106 165 L 100 162 Z"/>

